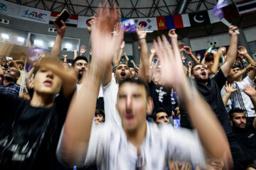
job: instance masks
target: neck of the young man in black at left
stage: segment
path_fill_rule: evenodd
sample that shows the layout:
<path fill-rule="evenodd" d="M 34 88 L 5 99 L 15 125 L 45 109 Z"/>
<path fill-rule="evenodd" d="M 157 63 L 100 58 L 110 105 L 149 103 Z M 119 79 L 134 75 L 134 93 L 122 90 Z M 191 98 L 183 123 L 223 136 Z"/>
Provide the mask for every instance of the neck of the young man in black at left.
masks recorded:
<path fill-rule="evenodd" d="M 33 98 L 31 99 L 31 106 L 33 107 L 43 107 L 50 108 L 53 106 L 54 96 L 48 94 L 38 94 L 34 91 Z"/>

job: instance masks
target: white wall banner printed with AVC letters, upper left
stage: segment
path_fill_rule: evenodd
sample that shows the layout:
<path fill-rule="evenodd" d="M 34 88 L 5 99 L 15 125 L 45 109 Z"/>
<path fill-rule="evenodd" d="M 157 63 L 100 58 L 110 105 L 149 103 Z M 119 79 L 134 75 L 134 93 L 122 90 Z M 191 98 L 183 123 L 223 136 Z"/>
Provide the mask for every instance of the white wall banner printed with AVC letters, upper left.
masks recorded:
<path fill-rule="evenodd" d="M 28 21 L 35 21 L 38 23 L 49 23 L 50 11 L 45 11 L 38 8 L 31 8 L 28 6 L 20 6 L 18 18 Z"/>

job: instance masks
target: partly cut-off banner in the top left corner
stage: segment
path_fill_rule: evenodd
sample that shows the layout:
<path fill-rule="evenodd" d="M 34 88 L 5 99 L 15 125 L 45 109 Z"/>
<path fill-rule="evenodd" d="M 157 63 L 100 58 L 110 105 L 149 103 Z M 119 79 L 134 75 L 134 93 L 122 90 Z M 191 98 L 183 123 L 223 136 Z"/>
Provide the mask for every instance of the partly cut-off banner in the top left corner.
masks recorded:
<path fill-rule="evenodd" d="M 0 0 L 0 13 L 6 16 L 18 17 L 20 6 L 8 1 Z"/>

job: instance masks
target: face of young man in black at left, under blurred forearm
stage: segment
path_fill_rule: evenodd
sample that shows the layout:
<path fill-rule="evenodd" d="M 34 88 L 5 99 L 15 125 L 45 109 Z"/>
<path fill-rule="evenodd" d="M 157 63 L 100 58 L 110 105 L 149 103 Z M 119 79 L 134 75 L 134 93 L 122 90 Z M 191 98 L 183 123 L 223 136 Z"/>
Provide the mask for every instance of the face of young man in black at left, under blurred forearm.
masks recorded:
<path fill-rule="evenodd" d="M 50 70 L 41 67 L 36 73 L 32 87 L 38 94 L 58 94 L 62 80 Z"/>

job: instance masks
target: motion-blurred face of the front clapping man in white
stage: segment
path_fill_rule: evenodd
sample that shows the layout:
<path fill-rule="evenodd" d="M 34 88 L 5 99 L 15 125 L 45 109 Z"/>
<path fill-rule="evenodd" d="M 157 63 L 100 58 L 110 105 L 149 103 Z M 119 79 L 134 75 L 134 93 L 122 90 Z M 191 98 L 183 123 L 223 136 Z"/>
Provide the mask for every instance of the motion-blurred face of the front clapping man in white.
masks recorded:
<path fill-rule="evenodd" d="M 117 95 L 117 111 L 124 131 L 133 132 L 146 125 L 146 108 L 149 106 L 143 85 L 124 83 Z"/>

